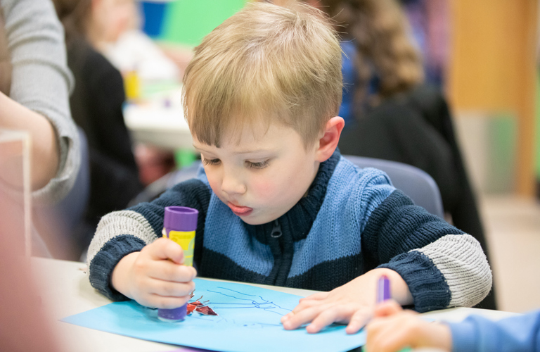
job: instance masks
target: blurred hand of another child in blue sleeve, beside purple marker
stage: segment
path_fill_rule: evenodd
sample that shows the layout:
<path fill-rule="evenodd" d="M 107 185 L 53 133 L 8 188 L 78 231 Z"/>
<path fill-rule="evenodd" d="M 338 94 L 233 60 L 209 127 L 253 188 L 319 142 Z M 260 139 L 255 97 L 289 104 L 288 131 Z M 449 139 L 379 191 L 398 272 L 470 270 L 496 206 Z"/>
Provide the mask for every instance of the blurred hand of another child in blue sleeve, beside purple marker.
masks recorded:
<path fill-rule="evenodd" d="M 375 318 L 368 324 L 364 351 L 395 352 L 406 347 L 438 348 L 451 351 L 450 328 L 426 322 L 418 313 L 402 310 L 395 301 L 386 301 L 375 308 Z"/>

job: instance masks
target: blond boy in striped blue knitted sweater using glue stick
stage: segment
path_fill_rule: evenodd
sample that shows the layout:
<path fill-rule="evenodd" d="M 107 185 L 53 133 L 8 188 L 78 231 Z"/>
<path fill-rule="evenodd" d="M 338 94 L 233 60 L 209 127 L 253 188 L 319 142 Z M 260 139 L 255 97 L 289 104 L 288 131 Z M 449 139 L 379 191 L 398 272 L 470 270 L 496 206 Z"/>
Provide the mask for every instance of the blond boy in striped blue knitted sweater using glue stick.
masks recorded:
<path fill-rule="evenodd" d="M 340 156 L 340 44 L 319 11 L 249 4 L 195 49 L 184 93 L 204 172 L 103 217 L 88 263 L 109 298 L 188 301 L 196 272 L 181 265 L 180 246 L 158 239 L 165 206 L 199 210 L 198 275 L 330 291 L 302 299 L 285 329 L 349 322 L 357 332 L 382 274 L 392 297 L 418 311 L 473 306 L 489 292 L 473 237 Z"/>

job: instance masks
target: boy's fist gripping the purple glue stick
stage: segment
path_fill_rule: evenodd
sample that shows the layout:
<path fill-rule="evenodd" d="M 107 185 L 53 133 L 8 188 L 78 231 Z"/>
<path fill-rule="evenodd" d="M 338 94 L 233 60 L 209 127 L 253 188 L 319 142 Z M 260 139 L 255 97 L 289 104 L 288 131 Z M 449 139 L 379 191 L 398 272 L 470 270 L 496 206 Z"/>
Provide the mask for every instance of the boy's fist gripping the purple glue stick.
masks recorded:
<path fill-rule="evenodd" d="M 197 275 L 195 268 L 183 263 L 181 246 L 160 238 L 124 256 L 113 271 L 112 284 L 143 306 L 177 308 L 189 301 Z"/>

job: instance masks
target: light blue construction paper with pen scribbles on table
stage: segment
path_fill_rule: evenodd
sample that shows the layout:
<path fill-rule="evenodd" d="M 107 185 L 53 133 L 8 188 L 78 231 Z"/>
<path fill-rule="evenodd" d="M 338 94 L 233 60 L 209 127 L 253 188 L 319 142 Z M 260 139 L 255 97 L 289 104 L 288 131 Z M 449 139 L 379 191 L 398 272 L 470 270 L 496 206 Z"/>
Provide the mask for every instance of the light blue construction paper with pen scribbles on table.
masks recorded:
<path fill-rule="evenodd" d="M 166 344 L 214 351 L 349 351 L 366 341 L 363 331 L 349 335 L 345 325 L 319 334 L 283 329 L 280 318 L 302 297 L 247 284 L 195 279 L 195 296 L 218 315 L 193 312 L 183 322 L 162 322 L 158 311 L 135 301 L 110 303 L 62 319 L 63 322 Z M 208 302 L 206 302 L 208 301 Z"/>

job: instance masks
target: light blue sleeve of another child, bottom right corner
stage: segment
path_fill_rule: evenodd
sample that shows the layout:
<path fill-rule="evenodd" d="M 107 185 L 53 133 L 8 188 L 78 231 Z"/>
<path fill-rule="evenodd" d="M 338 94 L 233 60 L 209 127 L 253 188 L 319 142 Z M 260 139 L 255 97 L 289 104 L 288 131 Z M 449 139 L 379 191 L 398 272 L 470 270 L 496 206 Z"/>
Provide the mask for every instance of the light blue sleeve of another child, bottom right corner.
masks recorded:
<path fill-rule="evenodd" d="M 471 315 L 448 325 L 452 351 L 540 351 L 540 310 L 499 321 Z"/>

